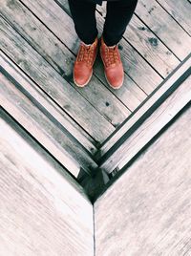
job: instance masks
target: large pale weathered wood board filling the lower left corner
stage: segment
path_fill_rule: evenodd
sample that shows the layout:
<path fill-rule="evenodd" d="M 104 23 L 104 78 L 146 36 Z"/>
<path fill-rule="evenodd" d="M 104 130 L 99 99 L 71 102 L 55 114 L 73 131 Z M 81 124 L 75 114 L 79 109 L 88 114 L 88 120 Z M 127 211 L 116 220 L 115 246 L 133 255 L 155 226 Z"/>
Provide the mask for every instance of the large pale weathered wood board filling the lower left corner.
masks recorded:
<path fill-rule="evenodd" d="M 36 147 L 0 119 L 0 254 L 93 256 L 92 204 Z"/>

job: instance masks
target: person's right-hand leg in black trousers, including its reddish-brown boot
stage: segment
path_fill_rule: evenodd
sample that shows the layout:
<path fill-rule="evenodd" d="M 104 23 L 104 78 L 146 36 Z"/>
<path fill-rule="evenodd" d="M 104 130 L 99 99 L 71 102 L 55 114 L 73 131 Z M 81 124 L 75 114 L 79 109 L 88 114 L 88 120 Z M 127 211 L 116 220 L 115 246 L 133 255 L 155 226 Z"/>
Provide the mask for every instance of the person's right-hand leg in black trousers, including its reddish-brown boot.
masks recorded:
<path fill-rule="evenodd" d="M 114 89 L 120 88 L 124 80 L 123 65 L 117 44 L 136 9 L 137 2 L 137 0 L 120 0 L 107 3 L 100 55 L 106 79 Z"/>

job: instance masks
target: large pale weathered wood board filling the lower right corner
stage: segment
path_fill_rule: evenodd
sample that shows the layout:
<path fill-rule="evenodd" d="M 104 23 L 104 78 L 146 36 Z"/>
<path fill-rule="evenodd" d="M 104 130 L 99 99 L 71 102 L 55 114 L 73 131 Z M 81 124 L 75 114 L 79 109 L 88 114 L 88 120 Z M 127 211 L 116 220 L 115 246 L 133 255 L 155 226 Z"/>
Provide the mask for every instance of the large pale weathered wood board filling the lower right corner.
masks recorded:
<path fill-rule="evenodd" d="M 191 108 L 95 204 L 96 256 L 191 255 Z"/>

